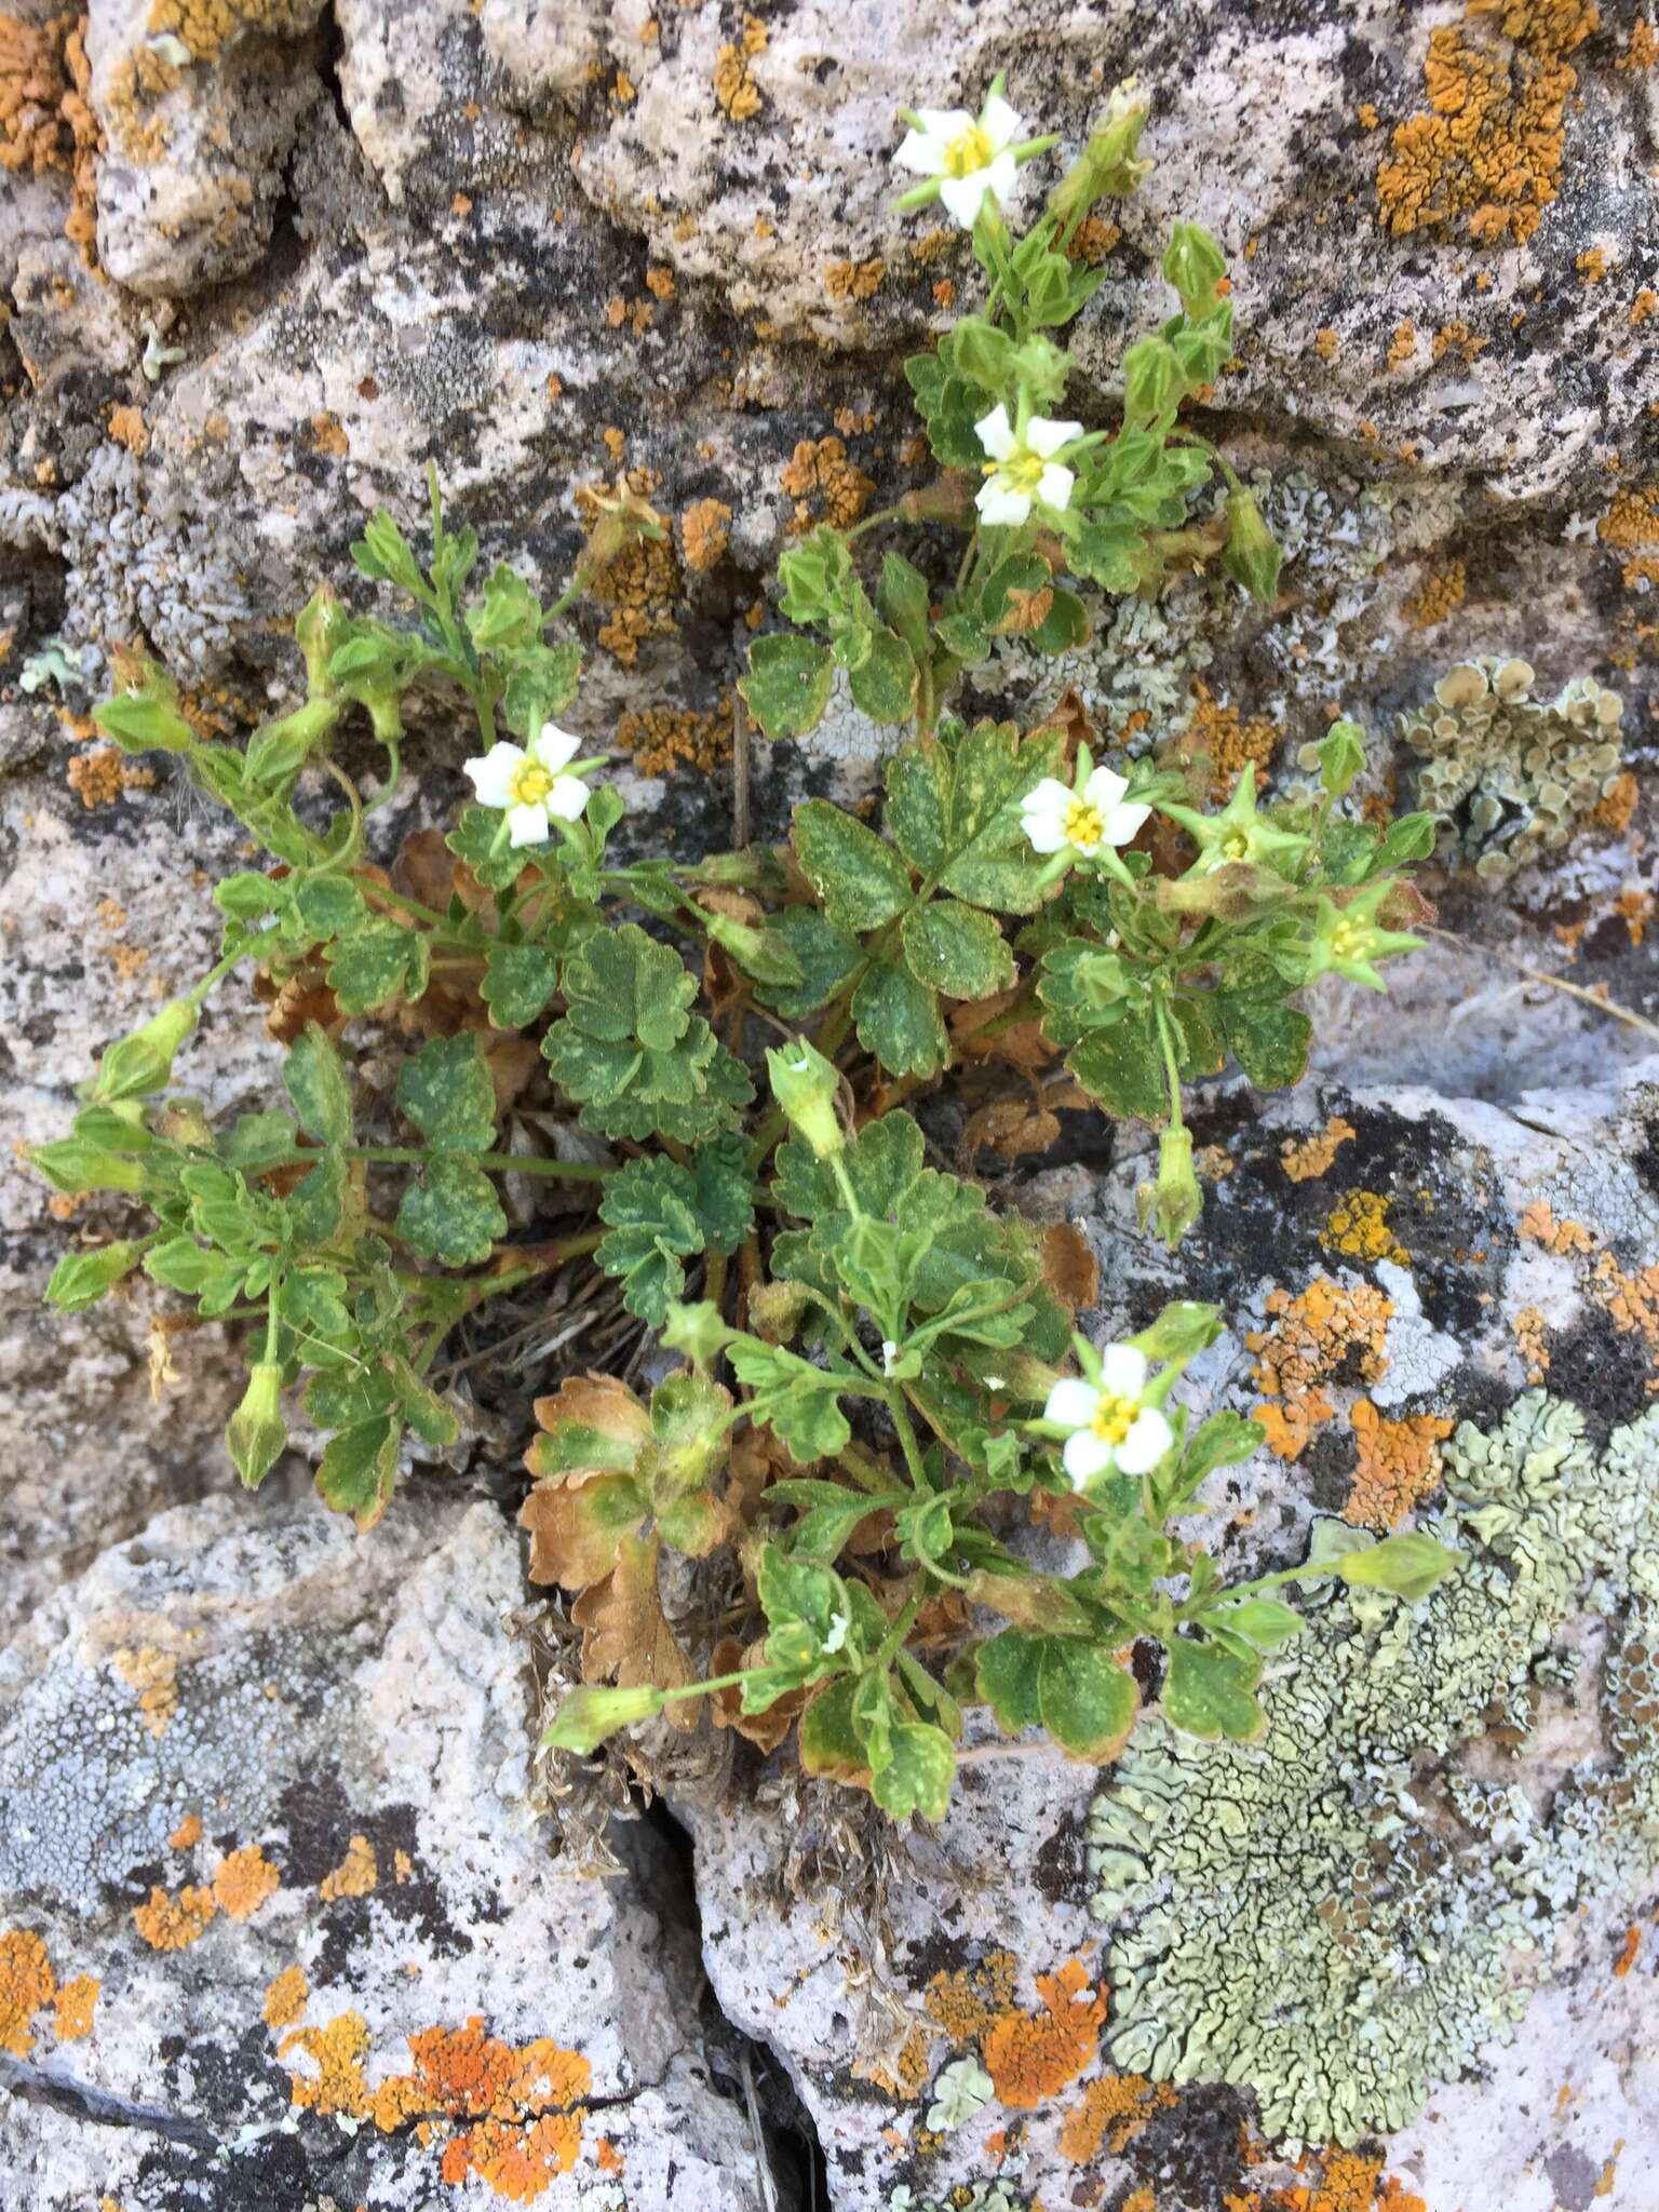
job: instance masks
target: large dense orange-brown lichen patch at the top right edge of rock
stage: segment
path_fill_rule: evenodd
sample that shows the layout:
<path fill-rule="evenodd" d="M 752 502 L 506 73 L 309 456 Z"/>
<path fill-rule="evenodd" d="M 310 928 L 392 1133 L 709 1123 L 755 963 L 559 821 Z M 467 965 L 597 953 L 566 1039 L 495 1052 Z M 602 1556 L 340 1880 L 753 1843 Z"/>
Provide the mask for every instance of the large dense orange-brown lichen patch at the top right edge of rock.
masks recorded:
<path fill-rule="evenodd" d="M 1588 0 L 1469 0 L 1462 24 L 1431 31 L 1429 104 L 1396 124 L 1376 173 L 1383 226 L 1524 246 L 1562 177 L 1566 55 L 1597 22 Z"/>

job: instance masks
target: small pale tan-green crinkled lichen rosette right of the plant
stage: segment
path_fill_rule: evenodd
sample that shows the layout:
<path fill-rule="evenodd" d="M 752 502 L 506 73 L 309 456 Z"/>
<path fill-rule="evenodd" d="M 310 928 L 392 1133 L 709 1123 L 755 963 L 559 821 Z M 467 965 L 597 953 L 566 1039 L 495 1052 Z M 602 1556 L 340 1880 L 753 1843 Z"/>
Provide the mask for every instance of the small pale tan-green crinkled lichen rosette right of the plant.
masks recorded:
<path fill-rule="evenodd" d="M 1495 880 L 1566 845 L 1619 774 L 1617 692 L 1595 677 L 1548 701 L 1531 688 L 1526 661 L 1462 661 L 1433 703 L 1400 717 L 1425 763 L 1418 799 L 1451 818 L 1462 856 Z"/>

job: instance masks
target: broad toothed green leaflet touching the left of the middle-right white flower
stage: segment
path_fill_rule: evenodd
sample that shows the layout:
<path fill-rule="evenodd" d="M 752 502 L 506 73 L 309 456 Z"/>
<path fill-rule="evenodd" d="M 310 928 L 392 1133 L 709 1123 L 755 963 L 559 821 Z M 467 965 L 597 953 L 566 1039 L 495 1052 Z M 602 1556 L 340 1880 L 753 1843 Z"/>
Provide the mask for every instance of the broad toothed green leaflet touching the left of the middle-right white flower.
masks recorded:
<path fill-rule="evenodd" d="M 1064 739 L 1053 730 L 1022 743 L 1013 723 L 980 721 L 956 726 L 949 745 L 920 737 L 887 765 L 887 836 L 971 907 L 1033 914 L 1044 860 L 1024 834 L 1020 801 L 1062 765 Z M 869 925 L 854 918 L 852 927 Z"/>

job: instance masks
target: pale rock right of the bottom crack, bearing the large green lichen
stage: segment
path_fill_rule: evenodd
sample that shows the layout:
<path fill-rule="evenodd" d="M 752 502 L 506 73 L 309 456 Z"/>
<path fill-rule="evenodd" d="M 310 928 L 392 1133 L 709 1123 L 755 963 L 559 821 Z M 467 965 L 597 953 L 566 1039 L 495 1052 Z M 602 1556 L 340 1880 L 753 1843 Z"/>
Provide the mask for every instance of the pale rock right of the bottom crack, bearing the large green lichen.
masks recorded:
<path fill-rule="evenodd" d="M 1513 1110 L 1221 1091 L 1194 1126 L 1177 1259 L 1133 1225 L 1144 1155 L 1018 1188 L 1088 1234 L 1095 1340 L 1223 1303 L 1183 1391 L 1272 1449 L 1194 1531 L 1243 1575 L 1416 1513 L 1467 1564 L 1420 1608 L 1312 1599 L 1261 1745 L 1150 1717 L 1093 1774 L 973 1741 L 920 1834 L 772 1770 L 688 1807 L 714 1991 L 836 2212 L 1259 2205 L 1301 2143 L 1332 2203 L 1544 2212 L 1657 2148 L 1659 1062 Z"/>

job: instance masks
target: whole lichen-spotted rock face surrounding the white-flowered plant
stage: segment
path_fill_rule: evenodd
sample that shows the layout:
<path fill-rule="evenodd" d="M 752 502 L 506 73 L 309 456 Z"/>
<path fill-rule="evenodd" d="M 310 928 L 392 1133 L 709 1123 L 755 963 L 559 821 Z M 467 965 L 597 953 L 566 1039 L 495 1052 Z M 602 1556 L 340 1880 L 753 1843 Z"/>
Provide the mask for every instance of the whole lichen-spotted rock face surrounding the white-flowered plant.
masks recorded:
<path fill-rule="evenodd" d="M 1325 987 L 1303 1093 L 1210 1097 L 1179 1272 L 1133 1228 L 1135 1130 L 1009 1194 L 1095 1243 L 1095 1334 L 1177 1285 L 1232 1316 L 1190 1378 L 1270 1427 L 1217 1484 L 1230 1564 L 1422 1511 L 1471 1568 L 1407 1630 L 1327 1608 L 1256 1750 L 1152 1730 L 1102 1778 L 987 1743 L 938 1834 L 741 1754 L 679 1807 L 699 1969 L 639 1832 L 591 1882 L 522 1812 L 498 1511 L 416 1491 L 356 1542 L 270 1489 L 206 1498 L 239 1387 L 212 1332 L 157 1338 L 142 1296 L 44 1316 L 104 1217 L 7 1157 L 15 2212 L 787 2212 L 710 2079 L 703 1971 L 810 2115 L 812 2212 L 1652 2201 L 1659 1068 L 1595 1004 L 1659 1015 L 1635 0 L 7 0 L 11 1135 L 55 1133 L 210 964 L 241 865 L 166 761 L 91 730 L 113 653 L 166 661 L 201 728 L 288 703 L 299 606 L 352 588 L 372 507 L 418 533 L 427 462 L 544 597 L 584 493 L 626 473 L 672 520 L 577 617 L 571 721 L 677 849 L 730 836 L 765 577 L 925 482 L 898 363 L 971 303 L 962 241 L 891 206 L 896 111 L 998 69 L 1062 155 L 1115 80 L 1150 93 L 1068 407 L 1113 418 L 1168 226 L 1203 221 L 1239 352 L 1197 427 L 1287 560 L 1270 611 L 1206 577 L 1093 602 L 1086 646 L 993 664 L 980 703 L 1071 688 L 1113 743 L 1267 774 L 1340 708 L 1380 794 L 1453 814 L 1451 936 L 1387 1000 Z M 757 832 L 869 787 L 883 745 L 836 701 L 757 761 Z M 387 845 L 469 750 L 418 728 Z M 274 1053 L 212 1004 L 179 1066 L 257 1106 Z"/>

